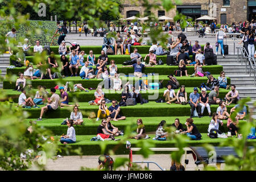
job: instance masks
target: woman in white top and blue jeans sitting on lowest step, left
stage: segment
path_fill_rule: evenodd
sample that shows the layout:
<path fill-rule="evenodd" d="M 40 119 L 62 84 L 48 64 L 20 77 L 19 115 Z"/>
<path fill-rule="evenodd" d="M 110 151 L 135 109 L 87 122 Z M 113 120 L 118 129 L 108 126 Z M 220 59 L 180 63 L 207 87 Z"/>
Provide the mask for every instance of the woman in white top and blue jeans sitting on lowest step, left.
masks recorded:
<path fill-rule="evenodd" d="M 73 120 L 68 119 L 67 125 L 68 125 L 67 135 L 61 136 L 60 143 L 63 143 L 63 144 L 75 143 L 76 142 L 76 131 L 73 127 Z"/>

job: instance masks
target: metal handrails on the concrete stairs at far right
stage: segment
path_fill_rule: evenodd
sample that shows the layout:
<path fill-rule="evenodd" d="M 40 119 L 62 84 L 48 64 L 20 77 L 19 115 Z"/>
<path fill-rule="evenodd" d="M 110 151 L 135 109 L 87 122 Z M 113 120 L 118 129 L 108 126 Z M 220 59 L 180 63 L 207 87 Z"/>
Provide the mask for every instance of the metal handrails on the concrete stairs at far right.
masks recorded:
<path fill-rule="evenodd" d="M 247 74 L 247 65 L 250 68 L 250 71 L 248 71 L 250 73 L 250 76 L 251 76 L 251 72 L 254 72 L 254 86 L 255 86 L 255 72 L 256 72 L 255 59 L 253 56 L 251 57 L 251 55 L 249 55 L 249 53 L 246 51 L 244 47 L 238 44 L 237 38 L 232 38 L 232 39 L 234 42 L 234 55 L 236 55 L 235 48 L 237 48 L 237 63 L 239 63 L 239 60 L 241 60 L 241 65 L 242 65 L 244 60 L 246 74 Z M 240 55 L 240 51 L 241 51 L 241 55 Z"/>

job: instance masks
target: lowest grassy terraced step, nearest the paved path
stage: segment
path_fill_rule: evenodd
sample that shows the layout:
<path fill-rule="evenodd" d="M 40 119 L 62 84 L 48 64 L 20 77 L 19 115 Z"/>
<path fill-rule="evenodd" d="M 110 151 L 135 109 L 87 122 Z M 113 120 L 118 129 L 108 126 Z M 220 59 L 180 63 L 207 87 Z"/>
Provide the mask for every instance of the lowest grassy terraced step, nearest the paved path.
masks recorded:
<path fill-rule="evenodd" d="M 212 144 L 213 146 L 220 146 L 220 142 L 229 140 L 230 138 L 209 138 L 207 136 L 207 133 L 201 133 L 202 139 L 201 140 L 187 140 L 187 146 L 188 147 L 200 147 L 204 144 Z M 104 152 L 107 152 L 109 150 L 113 150 L 115 152 L 115 155 L 123 155 L 129 154 L 129 150 L 126 149 L 126 140 L 129 140 L 131 142 L 131 147 L 137 147 L 137 143 L 139 143 L 139 140 L 135 139 L 127 139 L 124 137 L 116 137 L 120 138 L 119 141 L 113 141 L 113 140 L 106 140 L 106 141 L 90 141 L 91 138 L 96 137 L 96 135 L 77 135 L 76 136 L 76 143 L 67 144 L 68 146 L 71 146 L 72 149 L 81 148 L 82 155 L 101 155 L 101 147 L 100 144 L 106 143 L 106 148 Z M 154 147 L 158 148 L 170 148 L 170 147 L 176 147 L 175 140 L 166 140 L 166 141 L 158 141 L 158 140 L 152 140 L 152 138 L 155 137 L 155 135 L 149 135 L 150 139 L 147 139 L 152 144 L 154 144 Z M 60 137 L 55 137 L 56 140 L 59 140 Z M 239 140 L 239 139 L 236 139 Z M 247 144 L 249 146 L 255 146 L 256 140 L 247 140 Z M 59 142 L 59 146 L 64 146 L 64 144 L 61 144 Z M 155 152 L 155 154 L 170 154 L 170 151 L 158 151 Z M 138 154 L 136 151 L 133 151 L 133 154 Z M 67 155 L 64 152 L 60 155 Z M 69 154 L 69 155 L 77 155 L 77 154 Z"/>

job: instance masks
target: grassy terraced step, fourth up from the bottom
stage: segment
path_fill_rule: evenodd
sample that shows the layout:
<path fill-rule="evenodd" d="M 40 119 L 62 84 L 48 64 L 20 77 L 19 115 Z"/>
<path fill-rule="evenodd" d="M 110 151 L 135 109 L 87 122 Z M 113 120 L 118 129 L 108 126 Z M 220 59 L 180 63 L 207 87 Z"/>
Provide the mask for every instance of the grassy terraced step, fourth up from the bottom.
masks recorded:
<path fill-rule="evenodd" d="M 159 89 L 159 90 L 147 90 L 147 91 L 142 91 L 142 97 L 147 99 L 147 100 L 158 100 L 159 98 L 163 98 L 163 93 L 164 90 L 166 90 L 166 88 L 164 89 Z M 179 89 L 175 89 L 175 93 L 177 93 Z M 17 92 L 16 90 L 12 90 L 12 89 L 4 89 L 5 93 L 7 94 L 7 96 L 13 98 L 14 102 L 18 102 L 18 98 L 20 95 L 20 92 Z M 37 89 L 32 89 L 27 91 L 27 97 L 30 96 L 31 98 L 34 98 L 35 93 L 36 93 Z M 47 89 L 49 96 L 51 96 L 50 93 L 50 89 Z M 89 92 L 68 92 L 68 100 L 69 102 L 75 102 L 75 100 L 78 100 L 79 102 L 89 102 L 91 100 L 94 99 L 94 92 L 96 90 L 90 90 Z M 117 91 L 114 92 L 114 90 L 106 90 L 103 89 L 103 92 L 105 93 L 105 98 L 108 98 L 109 100 L 117 100 L 117 101 L 121 101 L 121 93 L 122 91 Z M 193 87 L 187 87 L 186 88 L 186 92 L 189 94 L 193 92 Z M 229 90 L 226 89 L 220 89 L 219 90 L 219 96 L 218 98 L 224 98 L 225 95 L 229 92 Z M 57 94 L 60 95 L 60 92 L 57 91 Z M 159 93 L 159 96 L 156 98 L 149 98 L 148 96 L 154 96 L 155 93 Z M 210 93 L 210 91 L 207 91 L 207 93 Z"/>

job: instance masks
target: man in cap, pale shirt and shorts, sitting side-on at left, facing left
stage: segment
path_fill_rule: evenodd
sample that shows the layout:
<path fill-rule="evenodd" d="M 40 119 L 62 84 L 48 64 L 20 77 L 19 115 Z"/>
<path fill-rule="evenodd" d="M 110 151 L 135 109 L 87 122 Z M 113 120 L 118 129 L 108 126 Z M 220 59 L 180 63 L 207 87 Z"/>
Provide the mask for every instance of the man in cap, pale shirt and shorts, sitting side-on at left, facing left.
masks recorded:
<path fill-rule="evenodd" d="M 48 104 L 41 108 L 40 117 L 36 121 L 42 121 L 42 117 L 43 117 L 43 114 L 44 114 L 45 111 L 56 110 L 59 106 L 60 106 L 60 108 L 63 108 L 60 105 L 60 96 L 58 94 L 56 94 L 55 92 L 56 92 L 56 89 L 55 88 L 51 88 L 52 96 L 48 100 Z"/>

